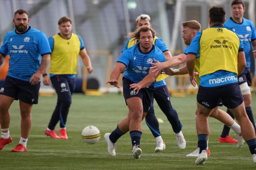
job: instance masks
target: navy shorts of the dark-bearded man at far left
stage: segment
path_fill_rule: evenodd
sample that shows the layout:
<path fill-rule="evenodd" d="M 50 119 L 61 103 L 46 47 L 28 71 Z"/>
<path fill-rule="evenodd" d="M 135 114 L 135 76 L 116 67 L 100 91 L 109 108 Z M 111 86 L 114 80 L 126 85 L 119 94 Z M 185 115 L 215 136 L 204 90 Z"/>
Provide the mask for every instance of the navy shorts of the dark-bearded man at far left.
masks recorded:
<path fill-rule="evenodd" d="M 28 104 L 38 104 L 39 89 L 40 82 L 32 85 L 30 82 L 6 76 L 0 94 Z"/>

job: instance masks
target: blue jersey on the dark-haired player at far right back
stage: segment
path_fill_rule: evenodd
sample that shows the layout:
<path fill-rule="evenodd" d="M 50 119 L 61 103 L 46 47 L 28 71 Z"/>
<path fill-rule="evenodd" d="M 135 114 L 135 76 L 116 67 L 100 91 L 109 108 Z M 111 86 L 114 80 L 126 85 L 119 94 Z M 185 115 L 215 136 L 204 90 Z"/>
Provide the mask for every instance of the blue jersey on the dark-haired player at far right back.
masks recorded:
<path fill-rule="evenodd" d="M 251 41 L 256 39 L 256 31 L 252 21 L 243 18 L 242 23 L 236 23 L 230 17 L 224 23 L 224 27 L 237 33 L 244 45 L 244 54 L 246 58 L 246 67 L 250 67 Z"/>

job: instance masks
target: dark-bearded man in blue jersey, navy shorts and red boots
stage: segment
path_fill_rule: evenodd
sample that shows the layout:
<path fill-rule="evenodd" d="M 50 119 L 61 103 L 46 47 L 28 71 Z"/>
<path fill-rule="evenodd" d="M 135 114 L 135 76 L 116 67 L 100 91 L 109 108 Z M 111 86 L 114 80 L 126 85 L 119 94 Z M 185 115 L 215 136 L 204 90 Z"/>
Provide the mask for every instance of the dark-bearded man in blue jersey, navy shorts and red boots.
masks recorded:
<path fill-rule="evenodd" d="M 0 150 L 12 142 L 9 132 L 9 108 L 14 100 L 20 100 L 21 137 L 12 152 L 25 152 L 31 129 L 31 109 L 38 104 L 40 78 L 50 61 L 50 46 L 42 31 L 28 26 L 28 12 L 14 12 L 15 29 L 7 32 L 0 49 L 0 59 L 10 55 L 6 79 L 0 88 Z"/>

